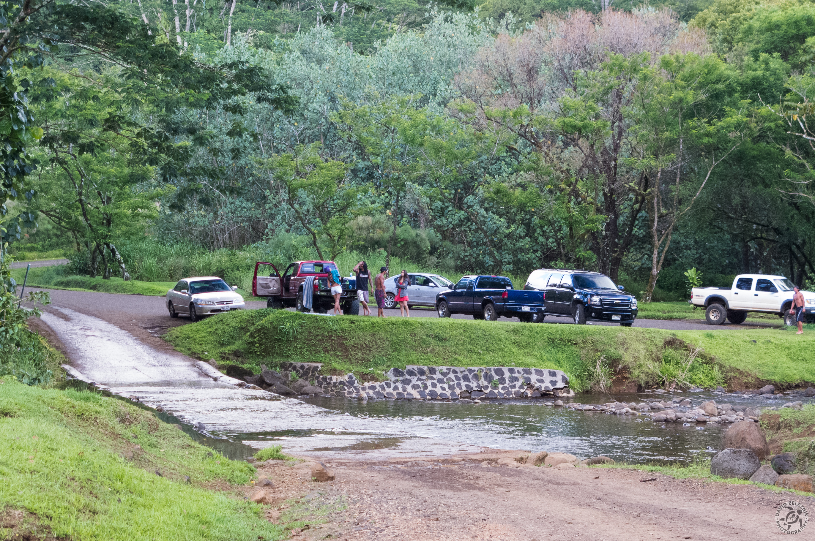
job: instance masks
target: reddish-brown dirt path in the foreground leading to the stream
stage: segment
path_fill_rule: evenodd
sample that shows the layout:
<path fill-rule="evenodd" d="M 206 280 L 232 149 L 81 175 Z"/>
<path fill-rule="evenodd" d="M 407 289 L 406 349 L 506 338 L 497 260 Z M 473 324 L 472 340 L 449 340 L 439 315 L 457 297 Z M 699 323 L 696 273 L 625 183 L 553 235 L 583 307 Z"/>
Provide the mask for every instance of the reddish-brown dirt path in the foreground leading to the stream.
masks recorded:
<path fill-rule="evenodd" d="M 323 483 L 282 462 L 258 469 L 278 484 L 270 520 L 309 524 L 294 539 L 778 539 L 779 504 L 796 499 L 815 510 L 811 497 L 631 469 L 482 465 L 497 456 L 432 467 L 333 460 L 336 479 Z M 291 507 L 281 509 L 284 498 Z"/>

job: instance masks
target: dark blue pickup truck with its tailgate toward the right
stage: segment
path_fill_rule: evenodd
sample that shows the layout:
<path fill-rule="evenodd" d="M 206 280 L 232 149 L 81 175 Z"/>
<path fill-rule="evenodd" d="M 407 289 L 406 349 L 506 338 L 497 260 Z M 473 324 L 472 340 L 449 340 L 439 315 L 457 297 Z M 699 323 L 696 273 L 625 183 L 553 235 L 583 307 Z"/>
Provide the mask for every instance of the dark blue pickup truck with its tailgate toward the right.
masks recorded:
<path fill-rule="evenodd" d="M 473 319 L 495 321 L 503 315 L 538 323 L 544 319 L 544 292 L 513 289 L 506 276 L 465 276 L 438 292 L 436 311 L 440 318 L 473 314 Z"/>

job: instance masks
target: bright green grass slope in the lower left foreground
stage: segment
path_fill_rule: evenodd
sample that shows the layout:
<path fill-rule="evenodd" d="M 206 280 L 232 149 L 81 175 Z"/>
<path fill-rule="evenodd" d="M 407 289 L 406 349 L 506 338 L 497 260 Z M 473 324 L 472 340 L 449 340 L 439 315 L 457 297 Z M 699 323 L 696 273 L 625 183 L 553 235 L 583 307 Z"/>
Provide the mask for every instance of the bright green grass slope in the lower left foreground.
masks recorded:
<path fill-rule="evenodd" d="M 148 411 L 7 376 L 0 419 L 2 539 L 282 537 L 237 490 L 254 476 L 252 466 Z"/>

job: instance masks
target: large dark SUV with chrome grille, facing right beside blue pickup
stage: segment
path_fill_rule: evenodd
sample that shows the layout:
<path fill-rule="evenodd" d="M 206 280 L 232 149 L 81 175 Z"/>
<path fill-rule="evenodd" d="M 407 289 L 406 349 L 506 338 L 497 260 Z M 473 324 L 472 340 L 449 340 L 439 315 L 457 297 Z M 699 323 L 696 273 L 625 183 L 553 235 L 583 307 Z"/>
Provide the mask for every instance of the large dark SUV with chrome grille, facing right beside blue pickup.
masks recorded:
<path fill-rule="evenodd" d="M 524 289 L 545 292 L 545 315 L 570 316 L 579 325 L 593 319 L 631 327 L 637 319 L 637 297 L 599 272 L 538 269 Z"/>

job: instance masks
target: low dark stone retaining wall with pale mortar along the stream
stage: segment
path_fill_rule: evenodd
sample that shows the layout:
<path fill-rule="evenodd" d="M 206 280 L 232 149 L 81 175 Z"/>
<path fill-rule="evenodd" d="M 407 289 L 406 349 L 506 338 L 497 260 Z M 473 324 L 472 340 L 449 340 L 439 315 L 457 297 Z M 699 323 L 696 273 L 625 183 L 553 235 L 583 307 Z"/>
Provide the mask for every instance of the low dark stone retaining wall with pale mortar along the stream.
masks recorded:
<path fill-rule="evenodd" d="M 353 373 L 319 376 L 321 363 L 283 363 L 284 371 L 314 380 L 325 394 L 368 398 L 532 398 L 541 394 L 568 393 L 569 378 L 560 370 L 516 367 L 391 368 L 389 380 L 363 382 Z M 565 392 L 564 392 L 565 391 Z"/>

